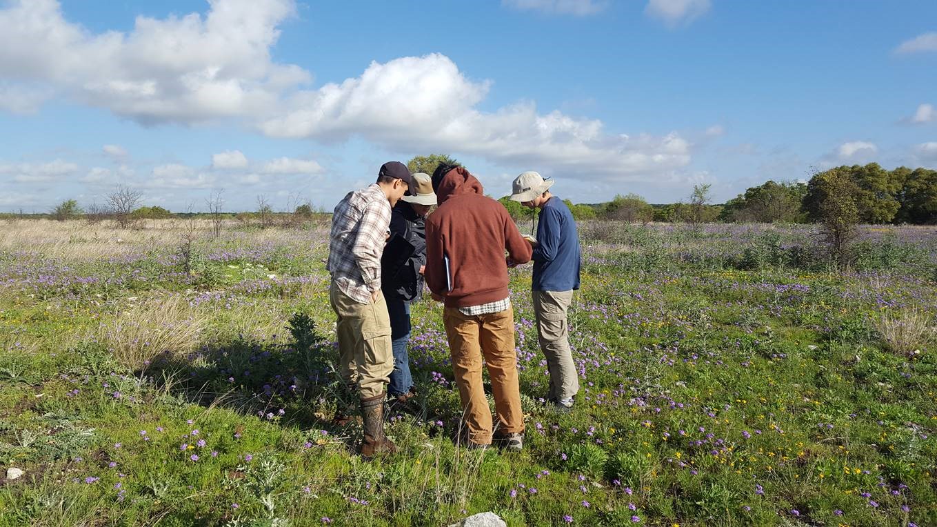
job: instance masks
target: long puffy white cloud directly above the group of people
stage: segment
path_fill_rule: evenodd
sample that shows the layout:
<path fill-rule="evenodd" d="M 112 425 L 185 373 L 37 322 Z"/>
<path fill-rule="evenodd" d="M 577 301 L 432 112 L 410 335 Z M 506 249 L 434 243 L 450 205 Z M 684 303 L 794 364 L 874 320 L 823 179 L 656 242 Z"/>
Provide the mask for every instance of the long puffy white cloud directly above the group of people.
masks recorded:
<path fill-rule="evenodd" d="M 649 175 L 690 162 L 690 143 L 676 132 L 609 134 L 601 121 L 538 113 L 532 102 L 480 112 L 475 106 L 488 87 L 468 81 L 439 53 L 375 62 L 361 77 L 298 93 L 289 112 L 260 129 L 325 142 L 360 136 L 398 151 L 452 152 L 585 176 Z"/>

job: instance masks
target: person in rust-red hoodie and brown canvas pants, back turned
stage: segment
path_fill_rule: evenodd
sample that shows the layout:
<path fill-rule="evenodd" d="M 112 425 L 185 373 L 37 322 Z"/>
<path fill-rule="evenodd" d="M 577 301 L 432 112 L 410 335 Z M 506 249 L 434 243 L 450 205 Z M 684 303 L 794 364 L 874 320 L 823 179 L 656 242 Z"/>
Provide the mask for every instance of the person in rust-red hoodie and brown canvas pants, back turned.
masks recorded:
<path fill-rule="evenodd" d="M 439 208 L 426 219 L 424 276 L 433 297 L 445 305 L 442 322 L 468 447 L 484 448 L 495 440 L 509 450 L 521 450 L 524 414 L 504 251 L 513 264 L 526 264 L 532 248 L 504 205 L 486 197 L 482 184 L 465 168 L 441 165 L 432 183 Z M 495 396 L 496 433 L 484 396 L 483 358 Z"/>

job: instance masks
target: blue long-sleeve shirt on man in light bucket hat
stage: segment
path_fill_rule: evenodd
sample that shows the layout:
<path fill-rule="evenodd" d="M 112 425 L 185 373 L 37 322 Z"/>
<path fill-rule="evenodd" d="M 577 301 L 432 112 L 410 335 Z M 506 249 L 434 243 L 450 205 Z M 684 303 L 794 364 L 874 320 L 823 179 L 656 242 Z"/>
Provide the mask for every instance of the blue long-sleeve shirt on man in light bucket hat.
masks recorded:
<path fill-rule="evenodd" d="M 537 241 L 533 250 L 534 291 L 579 289 L 581 260 L 579 233 L 573 213 L 566 203 L 553 196 L 543 205 L 537 221 Z"/>

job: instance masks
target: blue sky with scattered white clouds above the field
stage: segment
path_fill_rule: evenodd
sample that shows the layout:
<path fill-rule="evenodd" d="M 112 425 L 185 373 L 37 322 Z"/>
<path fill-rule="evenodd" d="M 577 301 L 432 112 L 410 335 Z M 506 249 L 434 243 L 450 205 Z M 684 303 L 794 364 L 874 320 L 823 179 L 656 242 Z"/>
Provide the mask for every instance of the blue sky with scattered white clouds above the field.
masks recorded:
<path fill-rule="evenodd" d="M 428 154 L 574 203 L 937 168 L 937 2 L 0 0 L 0 211 L 331 210 Z"/>

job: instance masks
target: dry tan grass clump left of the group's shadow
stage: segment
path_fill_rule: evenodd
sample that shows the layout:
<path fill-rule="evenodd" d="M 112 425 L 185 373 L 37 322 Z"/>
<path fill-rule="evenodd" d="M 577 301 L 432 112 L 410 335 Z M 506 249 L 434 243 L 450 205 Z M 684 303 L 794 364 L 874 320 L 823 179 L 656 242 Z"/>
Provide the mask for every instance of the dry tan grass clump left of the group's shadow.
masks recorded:
<path fill-rule="evenodd" d="M 204 315 L 185 298 L 153 298 L 98 326 L 97 341 L 126 368 L 143 370 L 160 354 L 196 349 L 206 325 Z"/>

